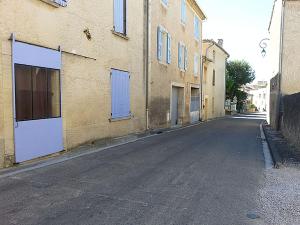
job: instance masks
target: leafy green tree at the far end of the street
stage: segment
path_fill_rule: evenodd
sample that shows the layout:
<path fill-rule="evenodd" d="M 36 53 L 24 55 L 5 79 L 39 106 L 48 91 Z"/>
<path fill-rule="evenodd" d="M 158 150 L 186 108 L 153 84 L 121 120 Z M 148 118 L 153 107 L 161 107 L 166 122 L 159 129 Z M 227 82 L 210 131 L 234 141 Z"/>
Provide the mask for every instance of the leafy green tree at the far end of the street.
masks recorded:
<path fill-rule="evenodd" d="M 242 91 L 242 86 L 255 80 L 255 71 L 244 60 L 229 61 L 226 64 L 226 98 L 233 100 L 237 97 L 237 109 L 240 111 L 247 93 Z"/>

